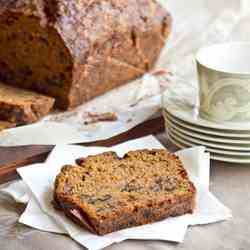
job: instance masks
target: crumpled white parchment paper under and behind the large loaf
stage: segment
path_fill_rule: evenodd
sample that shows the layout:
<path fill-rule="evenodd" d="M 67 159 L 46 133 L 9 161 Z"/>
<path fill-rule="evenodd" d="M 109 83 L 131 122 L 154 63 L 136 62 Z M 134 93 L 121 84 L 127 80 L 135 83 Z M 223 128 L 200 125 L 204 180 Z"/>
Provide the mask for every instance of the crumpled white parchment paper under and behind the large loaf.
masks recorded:
<path fill-rule="evenodd" d="M 193 58 L 198 48 L 220 41 L 249 40 L 245 11 L 230 9 L 230 1 L 228 9 L 218 13 L 199 0 L 193 1 L 195 9 L 193 2 L 184 6 L 183 1 L 159 1 L 172 13 L 174 24 L 154 71 L 166 69 L 171 74 L 155 76 L 151 72 L 71 112 L 54 113 L 36 124 L 6 130 L 0 133 L 0 146 L 90 142 L 123 133 L 159 112 L 164 89 L 179 81 L 197 86 Z M 87 112 L 115 112 L 118 120 L 86 126 Z"/>

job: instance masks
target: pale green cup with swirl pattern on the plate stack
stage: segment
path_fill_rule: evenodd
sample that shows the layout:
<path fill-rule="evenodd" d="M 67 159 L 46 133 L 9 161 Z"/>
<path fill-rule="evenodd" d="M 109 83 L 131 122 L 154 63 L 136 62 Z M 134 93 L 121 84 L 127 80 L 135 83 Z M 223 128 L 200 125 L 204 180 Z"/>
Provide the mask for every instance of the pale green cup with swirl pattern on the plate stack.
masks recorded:
<path fill-rule="evenodd" d="M 250 43 L 202 48 L 196 55 L 200 116 L 215 122 L 250 121 Z"/>

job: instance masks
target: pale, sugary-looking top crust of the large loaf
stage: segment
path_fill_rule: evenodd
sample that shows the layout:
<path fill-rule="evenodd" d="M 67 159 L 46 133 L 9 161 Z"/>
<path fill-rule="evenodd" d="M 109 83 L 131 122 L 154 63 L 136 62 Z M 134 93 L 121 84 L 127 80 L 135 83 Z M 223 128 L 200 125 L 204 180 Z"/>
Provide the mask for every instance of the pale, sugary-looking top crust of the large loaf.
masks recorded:
<path fill-rule="evenodd" d="M 0 13 L 4 11 L 34 15 L 53 26 L 77 63 L 87 59 L 93 46 L 128 30 L 146 33 L 158 26 L 165 42 L 172 23 L 155 0 L 0 0 Z"/>

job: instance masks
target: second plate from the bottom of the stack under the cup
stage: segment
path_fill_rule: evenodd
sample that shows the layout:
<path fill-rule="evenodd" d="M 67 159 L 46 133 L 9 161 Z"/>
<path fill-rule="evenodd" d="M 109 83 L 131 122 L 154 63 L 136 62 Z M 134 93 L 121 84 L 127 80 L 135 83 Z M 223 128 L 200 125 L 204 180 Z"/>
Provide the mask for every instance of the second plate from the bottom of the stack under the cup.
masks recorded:
<path fill-rule="evenodd" d="M 209 142 L 206 140 L 201 140 L 201 139 L 196 139 L 194 137 L 191 136 L 186 136 L 180 132 L 177 132 L 175 129 L 169 127 L 169 132 L 171 134 L 177 135 L 178 137 L 180 137 L 181 139 L 191 142 L 192 144 L 195 145 L 203 145 L 203 146 L 207 146 L 207 147 L 212 147 L 215 149 L 223 149 L 223 150 L 235 150 L 235 151 L 250 151 L 250 145 L 242 145 L 242 144 L 225 144 L 225 143 L 213 143 L 213 142 Z"/>

